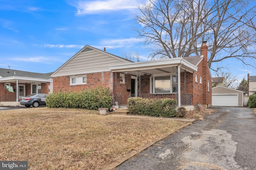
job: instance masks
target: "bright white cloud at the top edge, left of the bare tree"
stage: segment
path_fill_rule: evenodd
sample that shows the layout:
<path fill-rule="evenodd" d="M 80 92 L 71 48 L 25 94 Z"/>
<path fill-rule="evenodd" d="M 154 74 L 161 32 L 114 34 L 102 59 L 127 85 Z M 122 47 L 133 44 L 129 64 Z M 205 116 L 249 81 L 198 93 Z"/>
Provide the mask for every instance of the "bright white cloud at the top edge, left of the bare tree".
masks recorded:
<path fill-rule="evenodd" d="M 77 9 L 77 15 L 86 15 L 117 10 L 135 9 L 141 2 L 142 0 L 80 0 L 77 4 L 73 4 L 72 6 Z"/>

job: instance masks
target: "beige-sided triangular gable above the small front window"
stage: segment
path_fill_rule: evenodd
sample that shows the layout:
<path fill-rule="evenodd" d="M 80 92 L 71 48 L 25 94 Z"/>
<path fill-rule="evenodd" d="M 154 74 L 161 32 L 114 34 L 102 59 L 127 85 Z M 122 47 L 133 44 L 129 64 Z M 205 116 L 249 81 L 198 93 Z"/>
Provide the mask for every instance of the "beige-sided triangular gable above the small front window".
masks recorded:
<path fill-rule="evenodd" d="M 132 61 L 86 45 L 60 66 L 51 77 L 105 72 L 110 71 L 109 66 L 125 63 L 132 63 Z"/>

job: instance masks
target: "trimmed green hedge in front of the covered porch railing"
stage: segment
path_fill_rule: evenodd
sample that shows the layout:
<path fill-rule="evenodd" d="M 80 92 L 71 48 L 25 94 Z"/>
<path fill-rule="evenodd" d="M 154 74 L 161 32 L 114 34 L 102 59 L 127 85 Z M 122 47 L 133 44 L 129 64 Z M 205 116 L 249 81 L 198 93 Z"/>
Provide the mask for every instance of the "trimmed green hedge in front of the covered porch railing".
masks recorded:
<path fill-rule="evenodd" d="M 174 99 L 144 99 L 129 98 L 127 100 L 129 114 L 147 115 L 158 117 L 175 117 L 177 116 L 177 101 Z"/>

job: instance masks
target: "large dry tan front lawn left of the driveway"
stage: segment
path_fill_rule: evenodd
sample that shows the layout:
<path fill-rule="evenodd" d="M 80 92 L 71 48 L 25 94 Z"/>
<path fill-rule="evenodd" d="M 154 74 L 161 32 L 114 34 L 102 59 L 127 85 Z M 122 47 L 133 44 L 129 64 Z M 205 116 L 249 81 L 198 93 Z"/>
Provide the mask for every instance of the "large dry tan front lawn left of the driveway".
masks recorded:
<path fill-rule="evenodd" d="M 186 125 L 47 107 L 3 110 L 0 117 L 0 160 L 28 160 L 32 170 L 102 169 Z"/>

